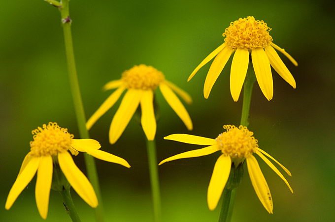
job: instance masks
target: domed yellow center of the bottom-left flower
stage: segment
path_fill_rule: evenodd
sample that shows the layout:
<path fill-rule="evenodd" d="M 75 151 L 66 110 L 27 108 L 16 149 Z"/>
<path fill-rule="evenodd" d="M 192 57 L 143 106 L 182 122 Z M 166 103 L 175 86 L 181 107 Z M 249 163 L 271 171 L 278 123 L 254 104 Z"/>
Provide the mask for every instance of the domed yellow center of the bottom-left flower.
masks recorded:
<path fill-rule="evenodd" d="M 34 156 L 56 156 L 71 148 L 73 135 L 57 123 L 43 124 L 42 128 L 37 127 L 32 134 L 34 136 L 33 141 L 30 141 L 30 150 Z"/>

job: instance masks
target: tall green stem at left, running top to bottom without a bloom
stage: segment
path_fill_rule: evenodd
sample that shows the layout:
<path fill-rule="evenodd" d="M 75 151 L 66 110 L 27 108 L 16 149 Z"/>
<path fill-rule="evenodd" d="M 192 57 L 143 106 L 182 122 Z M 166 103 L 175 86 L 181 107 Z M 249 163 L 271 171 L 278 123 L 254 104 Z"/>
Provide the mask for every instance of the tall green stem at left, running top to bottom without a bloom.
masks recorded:
<path fill-rule="evenodd" d="M 60 7 L 62 23 L 63 23 L 63 31 L 64 31 L 64 43 L 65 50 L 67 55 L 67 70 L 70 80 L 71 93 L 74 103 L 75 114 L 77 118 L 79 134 L 81 139 L 90 138 L 89 133 L 86 129 L 86 118 L 85 112 L 83 108 L 83 103 L 80 95 L 77 71 L 74 62 L 74 53 L 73 53 L 73 44 L 72 44 L 72 35 L 71 35 L 71 20 L 69 17 L 69 9 L 68 9 L 68 1 L 62 0 L 62 7 Z M 103 222 L 103 207 L 102 207 L 102 199 L 100 193 L 100 185 L 98 179 L 97 168 L 95 165 L 94 158 L 87 153 L 84 153 L 86 168 L 88 178 L 90 179 L 92 186 L 98 197 L 99 206 L 96 208 L 96 221 Z"/>

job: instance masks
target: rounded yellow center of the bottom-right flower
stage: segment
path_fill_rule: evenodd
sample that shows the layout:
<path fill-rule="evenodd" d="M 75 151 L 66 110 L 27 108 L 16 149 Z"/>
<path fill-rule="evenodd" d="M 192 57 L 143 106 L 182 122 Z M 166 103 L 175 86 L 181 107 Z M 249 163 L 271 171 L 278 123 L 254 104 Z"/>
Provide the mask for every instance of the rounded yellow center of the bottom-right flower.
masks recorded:
<path fill-rule="evenodd" d="M 232 125 L 224 125 L 227 132 L 220 134 L 215 140 L 223 154 L 229 155 L 232 159 L 246 158 L 258 147 L 257 139 L 246 127 L 238 128 Z"/>

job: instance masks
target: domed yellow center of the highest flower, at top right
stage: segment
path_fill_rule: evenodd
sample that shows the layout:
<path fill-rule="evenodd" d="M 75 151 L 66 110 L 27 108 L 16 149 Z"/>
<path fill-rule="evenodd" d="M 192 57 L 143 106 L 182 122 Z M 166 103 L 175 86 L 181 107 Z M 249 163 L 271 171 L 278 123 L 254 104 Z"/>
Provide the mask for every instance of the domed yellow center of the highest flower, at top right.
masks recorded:
<path fill-rule="evenodd" d="M 256 21 L 253 16 L 248 16 L 232 22 L 222 35 L 226 36 L 227 45 L 235 50 L 253 50 L 271 44 L 272 37 L 268 33 L 270 30 L 263 20 Z"/>

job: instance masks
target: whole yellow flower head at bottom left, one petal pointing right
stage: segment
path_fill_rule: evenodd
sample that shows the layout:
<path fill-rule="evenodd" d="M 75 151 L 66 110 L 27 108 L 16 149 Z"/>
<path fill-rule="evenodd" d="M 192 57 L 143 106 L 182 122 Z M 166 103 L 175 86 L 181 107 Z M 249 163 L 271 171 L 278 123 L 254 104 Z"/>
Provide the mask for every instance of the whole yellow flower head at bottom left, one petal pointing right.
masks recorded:
<path fill-rule="evenodd" d="M 94 139 L 73 139 L 73 135 L 67 129 L 61 128 L 57 123 L 50 122 L 48 125 L 38 127 L 32 131 L 33 141 L 30 142 L 30 152 L 26 155 L 20 168 L 19 174 L 9 191 L 5 209 L 13 205 L 16 198 L 33 179 L 37 171 L 35 186 L 35 199 L 38 212 L 46 219 L 49 206 L 49 194 L 52 184 L 53 167 L 58 166 L 64 173 L 67 181 L 79 196 L 91 207 L 98 206 L 98 199 L 94 189 L 74 164 L 72 155 L 86 152 L 100 160 L 130 167 L 124 159 L 110 153 L 99 150 L 100 143 Z"/>

